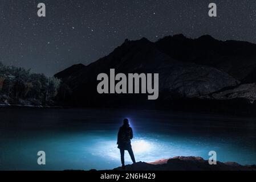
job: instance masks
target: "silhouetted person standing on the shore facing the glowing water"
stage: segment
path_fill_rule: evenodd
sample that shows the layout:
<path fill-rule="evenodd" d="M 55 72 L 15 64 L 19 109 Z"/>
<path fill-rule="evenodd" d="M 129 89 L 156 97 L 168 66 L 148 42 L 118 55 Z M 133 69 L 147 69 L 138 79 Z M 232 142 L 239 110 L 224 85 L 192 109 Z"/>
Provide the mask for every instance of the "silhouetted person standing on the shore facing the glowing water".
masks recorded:
<path fill-rule="evenodd" d="M 132 162 L 135 163 L 135 158 L 134 158 L 132 146 L 131 146 L 132 138 L 133 138 L 132 128 L 129 125 L 128 119 L 124 119 L 124 125 L 120 127 L 118 136 L 117 136 L 117 144 L 118 144 L 118 148 L 120 149 L 122 168 L 125 168 L 125 165 L 124 165 L 125 150 L 129 152 Z"/>

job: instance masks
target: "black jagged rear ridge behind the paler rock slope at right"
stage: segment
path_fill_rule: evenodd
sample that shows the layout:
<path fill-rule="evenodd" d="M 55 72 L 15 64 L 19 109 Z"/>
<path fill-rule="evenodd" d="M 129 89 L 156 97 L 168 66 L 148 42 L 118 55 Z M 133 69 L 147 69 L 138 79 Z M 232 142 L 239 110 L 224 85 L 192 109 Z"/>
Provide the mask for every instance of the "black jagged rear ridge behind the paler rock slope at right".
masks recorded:
<path fill-rule="evenodd" d="M 216 40 L 210 35 L 188 39 L 184 35 L 168 36 L 157 46 L 176 60 L 208 65 L 246 81 L 254 73 L 256 45 L 248 42 Z M 255 80 L 254 80 L 255 81 Z"/>

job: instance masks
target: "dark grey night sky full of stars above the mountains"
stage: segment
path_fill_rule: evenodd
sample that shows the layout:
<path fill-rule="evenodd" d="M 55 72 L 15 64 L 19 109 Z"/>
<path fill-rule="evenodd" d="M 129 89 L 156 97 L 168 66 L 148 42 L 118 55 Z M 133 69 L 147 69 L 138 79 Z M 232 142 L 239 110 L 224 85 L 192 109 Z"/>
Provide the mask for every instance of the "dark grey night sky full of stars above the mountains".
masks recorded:
<path fill-rule="evenodd" d="M 0 61 L 52 76 L 108 55 L 126 38 L 209 34 L 256 43 L 255 27 L 256 1 L 248 0 L 0 0 Z"/>

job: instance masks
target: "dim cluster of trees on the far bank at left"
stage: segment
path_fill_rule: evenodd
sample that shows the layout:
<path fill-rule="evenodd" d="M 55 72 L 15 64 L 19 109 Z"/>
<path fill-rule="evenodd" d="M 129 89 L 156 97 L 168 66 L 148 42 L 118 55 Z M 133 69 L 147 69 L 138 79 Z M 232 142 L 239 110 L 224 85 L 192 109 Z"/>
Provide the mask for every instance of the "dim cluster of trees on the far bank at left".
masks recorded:
<path fill-rule="evenodd" d="M 54 100 L 61 81 L 55 77 L 31 73 L 30 69 L 6 66 L 0 62 L 0 96 L 19 99 L 34 99 L 42 103 Z"/>

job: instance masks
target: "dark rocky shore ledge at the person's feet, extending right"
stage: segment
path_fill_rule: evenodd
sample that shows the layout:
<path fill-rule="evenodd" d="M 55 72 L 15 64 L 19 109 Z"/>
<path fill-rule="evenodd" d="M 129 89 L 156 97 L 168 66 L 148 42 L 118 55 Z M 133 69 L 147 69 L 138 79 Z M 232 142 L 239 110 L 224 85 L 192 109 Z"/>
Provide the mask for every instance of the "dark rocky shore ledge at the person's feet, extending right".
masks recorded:
<path fill-rule="evenodd" d="M 159 160 L 153 163 L 138 162 L 113 169 L 115 171 L 256 171 L 256 166 L 242 166 L 235 162 L 210 165 L 208 160 L 194 156 L 177 156 L 170 159 Z"/>

